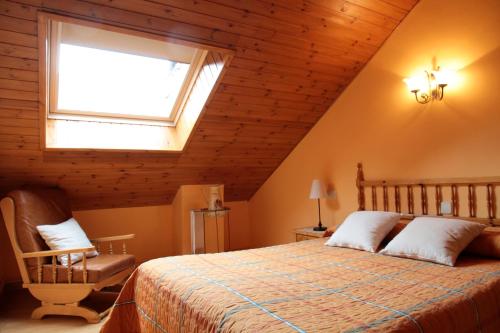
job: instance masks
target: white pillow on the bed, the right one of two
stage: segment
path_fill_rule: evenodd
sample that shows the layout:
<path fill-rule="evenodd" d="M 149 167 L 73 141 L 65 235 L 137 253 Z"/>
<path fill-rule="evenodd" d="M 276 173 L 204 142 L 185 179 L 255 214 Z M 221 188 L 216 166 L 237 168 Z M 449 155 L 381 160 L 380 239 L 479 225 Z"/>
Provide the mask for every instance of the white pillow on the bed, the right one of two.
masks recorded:
<path fill-rule="evenodd" d="M 460 252 L 485 227 L 459 219 L 417 217 L 380 253 L 453 266 Z"/>

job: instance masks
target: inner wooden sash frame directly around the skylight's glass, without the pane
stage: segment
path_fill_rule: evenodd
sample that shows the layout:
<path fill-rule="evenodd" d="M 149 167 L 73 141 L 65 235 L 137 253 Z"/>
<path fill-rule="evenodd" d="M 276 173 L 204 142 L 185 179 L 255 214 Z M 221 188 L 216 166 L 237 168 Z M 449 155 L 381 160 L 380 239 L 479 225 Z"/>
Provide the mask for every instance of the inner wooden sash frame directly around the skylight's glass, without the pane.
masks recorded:
<path fill-rule="evenodd" d="M 59 25 L 58 25 L 59 23 Z M 85 110 L 64 110 L 59 109 L 57 106 L 58 91 L 59 91 L 59 50 L 61 45 L 61 23 L 70 23 L 75 25 L 87 26 L 94 29 L 103 29 L 121 34 L 137 36 L 140 38 L 149 38 L 159 40 L 169 44 L 179 44 L 196 49 L 193 57 L 189 63 L 189 69 L 184 79 L 184 82 L 176 96 L 175 103 L 172 107 L 170 117 L 159 117 L 151 115 L 132 115 L 132 114 L 119 114 L 119 113 L 105 113 Z M 110 122 L 110 123 L 123 123 L 123 124 L 144 124 L 155 126 L 172 126 L 175 127 L 177 121 L 182 113 L 182 109 L 186 100 L 189 97 L 191 89 L 194 85 L 199 71 L 205 61 L 208 51 L 197 47 L 194 43 L 171 40 L 165 37 L 157 36 L 154 34 L 136 32 L 120 27 L 109 26 L 105 24 L 98 24 L 92 21 L 83 21 L 79 19 L 67 18 L 58 15 L 48 15 L 47 17 L 47 47 L 46 47 L 46 89 L 47 89 L 47 118 L 48 119 L 64 119 L 64 120 L 87 120 L 97 122 Z M 98 49 L 98 48 L 97 48 Z M 168 59 L 168 58 L 166 58 Z M 176 60 L 171 60 L 176 61 Z M 168 112 L 166 110 L 165 112 Z"/>

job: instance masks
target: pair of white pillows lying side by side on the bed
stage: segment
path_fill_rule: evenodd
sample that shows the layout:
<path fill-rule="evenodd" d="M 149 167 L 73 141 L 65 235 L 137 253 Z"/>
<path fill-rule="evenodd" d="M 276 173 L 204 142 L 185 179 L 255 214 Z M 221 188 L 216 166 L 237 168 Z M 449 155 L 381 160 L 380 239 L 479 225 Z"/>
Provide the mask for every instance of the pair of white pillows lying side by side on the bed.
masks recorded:
<path fill-rule="evenodd" d="M 376 252 L 399 218 L 399 214 L 390 212 L 352 213 L 326 245 Z M 460 252 L 484 228 L 480 223 L 458 219 L 418 217 L 380 253 L 453 266 Z"/>

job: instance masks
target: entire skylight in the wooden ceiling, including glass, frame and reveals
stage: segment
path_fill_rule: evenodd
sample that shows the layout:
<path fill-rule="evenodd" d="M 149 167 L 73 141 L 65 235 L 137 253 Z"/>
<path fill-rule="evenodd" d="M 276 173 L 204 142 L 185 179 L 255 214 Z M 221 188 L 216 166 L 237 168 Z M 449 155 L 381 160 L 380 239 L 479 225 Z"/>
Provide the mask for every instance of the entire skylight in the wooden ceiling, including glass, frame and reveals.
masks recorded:
<path fill-rule="evenodd" d="M 234 51 L 38 12 L 41 148 L 181 152 Z"/>

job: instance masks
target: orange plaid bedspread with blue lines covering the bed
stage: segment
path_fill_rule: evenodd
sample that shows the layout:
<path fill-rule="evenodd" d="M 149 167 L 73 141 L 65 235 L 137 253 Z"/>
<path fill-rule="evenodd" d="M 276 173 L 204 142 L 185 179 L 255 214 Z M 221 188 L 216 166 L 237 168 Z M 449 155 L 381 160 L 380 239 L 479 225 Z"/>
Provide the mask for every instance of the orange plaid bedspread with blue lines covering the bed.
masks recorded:
<path fill-rule="evenodd" d="M 101 332 L 500 332 L 499 260 L 447 267 L 324 241 L 144 263 Z"/>

